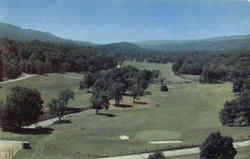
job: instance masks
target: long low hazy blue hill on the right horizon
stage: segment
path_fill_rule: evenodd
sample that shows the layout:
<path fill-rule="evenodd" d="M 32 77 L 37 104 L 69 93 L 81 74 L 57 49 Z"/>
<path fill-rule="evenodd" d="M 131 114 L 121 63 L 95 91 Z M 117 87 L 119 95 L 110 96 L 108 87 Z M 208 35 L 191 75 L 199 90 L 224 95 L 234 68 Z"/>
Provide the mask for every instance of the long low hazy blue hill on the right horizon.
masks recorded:
<path fill-rule="evenodd" d="M 250 50 L 250 35 L 217 37 L 204 40 L 152 40 L 135 43 L 146 49 L 167 52 L 221 52 L 233 50 Z"/>

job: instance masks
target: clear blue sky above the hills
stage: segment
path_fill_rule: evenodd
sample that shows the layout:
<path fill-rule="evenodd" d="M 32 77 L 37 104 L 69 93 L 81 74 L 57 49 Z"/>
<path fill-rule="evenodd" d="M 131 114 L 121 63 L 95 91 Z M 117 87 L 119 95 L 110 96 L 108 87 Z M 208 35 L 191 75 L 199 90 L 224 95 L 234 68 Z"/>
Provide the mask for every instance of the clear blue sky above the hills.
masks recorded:
<path fill-rule="evenodd" d="M 0 22 L 95 43 L 250 34 L 250 0 L 0 0 Z"/>

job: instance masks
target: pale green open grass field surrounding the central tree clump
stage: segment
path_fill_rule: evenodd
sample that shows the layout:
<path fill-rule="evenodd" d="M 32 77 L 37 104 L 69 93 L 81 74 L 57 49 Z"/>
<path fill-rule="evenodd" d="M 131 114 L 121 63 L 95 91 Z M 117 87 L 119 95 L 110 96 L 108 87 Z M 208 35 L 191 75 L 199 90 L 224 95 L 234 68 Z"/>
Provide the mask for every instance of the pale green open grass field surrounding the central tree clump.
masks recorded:
<path fill-rule="evenodd" d="M 187 76 L 183 79 L 173 74 L 171 64 L 129 64 L 140 68 L 160 69 L 162 76 L 169 82 L 169 92 L 162 93 L 160 85 L 153 84 L 147 90 L 147 95 L 140 99 L 140 102 L 146 102 L 147 105 L 111 109 L 103 112 L 106 114 L 98 116 L 94 111 L 82 112 L 68 118 L 72 123 L 52 125 L 52 134 L 2 133 L 9 139 L 19 138 L 32 143 L 32 150 L 21 150 L 16 158 L 85 159 L 139 153 L 171 146 L 200 144 L 214 131 L 221 131 L 223 135 L 233 136 L 236 140 L 248 139 L 249 127 L 223 127 L 218 118 L 224 102 L 235 98 L 231 83 L 199 84 L 196 76 Z M 45 101 L 55 96 L 62 88 L 72 88 L 76 91 L 77 98 L 70 105 L 88 105 L 89 94 L 78 91 L 79 79 L 81 75 L 77 74 L 50 74 L 32 77 L 15 84 L 38 88 L 42 91 Z M 11 86 L 4 85 L 2 90 L 8 90 Z M 3 91 L 1 93 L 3 97 Z M 128 101 L 129 98 L 124 99 L 124 103 L 127 104 Z M 131 140 L 121 141 L 121 135 L 129 136 Z M 160 140 L 182 140 L 183 143 L 148 143 Z"/>

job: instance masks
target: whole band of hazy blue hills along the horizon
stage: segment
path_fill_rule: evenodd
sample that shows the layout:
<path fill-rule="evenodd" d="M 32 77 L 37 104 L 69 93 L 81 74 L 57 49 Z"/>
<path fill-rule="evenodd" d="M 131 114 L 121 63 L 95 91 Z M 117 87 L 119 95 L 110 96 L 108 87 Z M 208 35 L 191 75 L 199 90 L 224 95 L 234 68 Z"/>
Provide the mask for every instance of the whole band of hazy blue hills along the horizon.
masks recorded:
<path fill-rule="evenodd" d="M 86 41 L 73 41 L 57 37 L 51 33 L 23 29 L 21 27 L 0 23 L 0 38 L 17 41 L 48 41 L 52 43 L 69 43 L 82 46 L 105 48 L 106 51 L 119 54 L 135 54 L 147 52 L 227 52 L 250 50 L 250 35 L 215 37 L 200 40 L 149 40 L 142 42 L 118 42 L 106 45 Z"/>

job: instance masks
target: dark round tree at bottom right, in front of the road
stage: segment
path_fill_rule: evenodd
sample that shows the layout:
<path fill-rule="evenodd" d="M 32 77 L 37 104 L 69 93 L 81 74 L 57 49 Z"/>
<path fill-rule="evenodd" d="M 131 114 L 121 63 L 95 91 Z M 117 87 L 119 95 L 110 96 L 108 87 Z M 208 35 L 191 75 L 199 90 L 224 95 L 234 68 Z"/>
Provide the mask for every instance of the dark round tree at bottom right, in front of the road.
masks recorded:
<path fill-rule="evenodd" d="M 237 151 L 233 138 L 221 136 L 219 132 L 210 134 L 200 146 L 201 159 L 233 159 Z"/>

